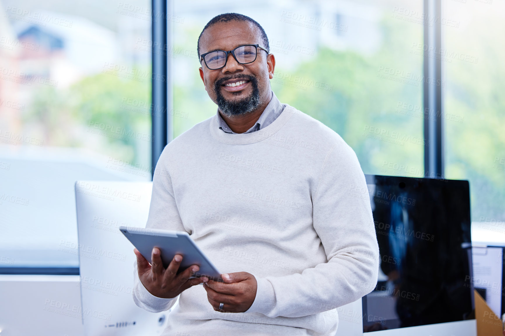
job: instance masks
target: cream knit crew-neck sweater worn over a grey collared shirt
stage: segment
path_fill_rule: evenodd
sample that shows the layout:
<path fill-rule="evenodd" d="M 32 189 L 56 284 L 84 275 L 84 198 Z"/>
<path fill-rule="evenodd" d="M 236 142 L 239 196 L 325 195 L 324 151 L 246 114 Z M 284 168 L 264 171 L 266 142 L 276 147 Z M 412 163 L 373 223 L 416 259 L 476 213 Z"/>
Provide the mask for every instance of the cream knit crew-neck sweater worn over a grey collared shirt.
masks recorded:
<path fill-rule="evenodd" d="M 164 335 L 333 335 L 336 308 L 373 290 L 379 251 L 356 154 L 291 106 L 250 133 L 217 115 L 169 143 L 156 166 L 147 228 L 188 232 L 222 273 L 248 272 L 258 290 L 244 313 L 214 311 L 203 286 L 182 292 Z M 151 295 L 135 270 L 133 299 Z"/>

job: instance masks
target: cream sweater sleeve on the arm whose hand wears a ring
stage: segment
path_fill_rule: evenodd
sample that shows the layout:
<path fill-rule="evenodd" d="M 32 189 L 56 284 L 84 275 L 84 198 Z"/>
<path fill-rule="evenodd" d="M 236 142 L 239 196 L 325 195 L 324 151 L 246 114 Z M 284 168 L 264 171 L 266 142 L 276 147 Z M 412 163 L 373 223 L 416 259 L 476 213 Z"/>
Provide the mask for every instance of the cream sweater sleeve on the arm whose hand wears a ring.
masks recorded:
<path fill-rule="evenodd" d="M 312 194 L 313 225 L 328 261 L 301 274 L 257 278 L 247 313 L 312 315 L 356 301 L 376 286 L 379 247 L 370 197 L 356 154 L 342 143 L 327 154 Z"/>

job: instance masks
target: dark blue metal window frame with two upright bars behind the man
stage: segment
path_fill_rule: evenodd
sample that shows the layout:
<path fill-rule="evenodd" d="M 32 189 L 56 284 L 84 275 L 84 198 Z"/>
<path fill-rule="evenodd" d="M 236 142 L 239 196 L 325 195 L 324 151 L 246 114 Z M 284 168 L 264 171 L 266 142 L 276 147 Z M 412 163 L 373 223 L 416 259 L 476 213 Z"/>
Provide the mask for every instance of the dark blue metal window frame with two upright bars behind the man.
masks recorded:
<path fill-rule="evenodd" d="M 441 17 L 441 0 L 424 0 L 424 13 L 430 17 Z M 151 131 L 153 143 L 151 146 L 151 177 L 160 155 L 165 146 L 173 139 L 173 120 L 170 111 L 173 108 L 173 80 L 172 63 L 169 52 L 173 50 L 172 21 L 168 20 L 169 12 L 173 13 L 172 0 L 151 0 L 151 39 L 152 43 L 152 76 L 151 76 Z M 434 45 L 439 50 L 442 45 L 441 20 L 435 20 L 430 27 L 424 25 L 424 44 Z M 430 49 L 430 48 L 428 48 Z M 432 48 L 433 49 L 433 48 Z M 423 60 L 424 85 L 424 169 L 426 177 L 443 177 L 443 96 L 442 86 L 428 84 L 427 78 L 432 83 L 442 83 L 441 60 L 434 51 L 425 53 Z M 440 111 L 434 118 L 428 117 L 426 111 Z M 18 275 L 79 275 L 79 267 L 3 267 L 0 274 Z"/>

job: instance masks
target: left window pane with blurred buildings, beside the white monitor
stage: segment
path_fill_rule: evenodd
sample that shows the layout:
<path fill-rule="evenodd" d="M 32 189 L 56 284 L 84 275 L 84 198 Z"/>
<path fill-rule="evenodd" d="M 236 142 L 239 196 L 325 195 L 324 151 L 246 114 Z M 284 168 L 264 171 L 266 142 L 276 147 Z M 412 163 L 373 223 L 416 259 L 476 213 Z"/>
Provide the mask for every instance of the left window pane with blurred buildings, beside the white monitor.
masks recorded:
<path fill-rule="evenodd" d="M 75 267 L 75 180 L 150 180 L 150 2 L 0 8 L 0 267 Z"/>

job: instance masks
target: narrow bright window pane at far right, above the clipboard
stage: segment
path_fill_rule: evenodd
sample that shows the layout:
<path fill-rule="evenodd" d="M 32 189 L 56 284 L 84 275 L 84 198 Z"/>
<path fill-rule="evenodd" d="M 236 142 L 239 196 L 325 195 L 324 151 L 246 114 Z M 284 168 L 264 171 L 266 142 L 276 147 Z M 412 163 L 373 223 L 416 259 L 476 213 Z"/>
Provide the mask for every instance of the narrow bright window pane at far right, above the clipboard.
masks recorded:
<path fill-rule="evenodd" d="M 493 0 L 445 2 L 458 27 L 444 27 L 447 178 L 468 179 L 472 221 L 505 232 L 505 6 Z M 484 224 L 483 224 L 484 225 Z"/>

